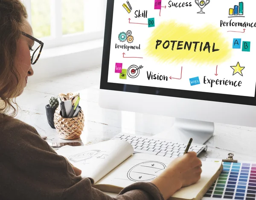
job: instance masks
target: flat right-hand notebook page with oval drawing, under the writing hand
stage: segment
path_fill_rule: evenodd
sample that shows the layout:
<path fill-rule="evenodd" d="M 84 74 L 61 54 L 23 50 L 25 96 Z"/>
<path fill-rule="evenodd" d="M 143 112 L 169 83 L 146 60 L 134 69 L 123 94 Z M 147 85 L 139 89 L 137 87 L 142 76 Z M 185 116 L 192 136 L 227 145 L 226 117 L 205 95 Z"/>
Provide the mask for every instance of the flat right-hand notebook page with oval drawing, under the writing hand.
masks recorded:
<path fill-rule="evenodd" d="M 135 182 L 148 182 L 157 177 L 174 159 L 157 155 L 135 154 L 98 181 L 98 184 L 120 188 Z M 193 199 L 201 192 L 221 168 L 221 163 L 202 162 L 201 179 L 192 186 L 184 187 L 172 197 Z"/>

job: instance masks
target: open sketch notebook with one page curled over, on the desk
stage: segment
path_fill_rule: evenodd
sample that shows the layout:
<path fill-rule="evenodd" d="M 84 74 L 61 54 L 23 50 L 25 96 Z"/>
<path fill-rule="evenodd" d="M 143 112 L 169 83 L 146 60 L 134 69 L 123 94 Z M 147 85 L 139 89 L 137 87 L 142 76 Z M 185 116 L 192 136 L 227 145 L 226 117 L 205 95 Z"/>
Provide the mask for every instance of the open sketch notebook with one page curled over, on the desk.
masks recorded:
<path fill-rule="evenodd" d="M 126 141 L 110 140 L 90 146 L 64 146 L 57 151 L 82 170 L 93 187 L 104 192 L 119 193 L 135 182 L 148 182 L 157 177 L 174 159 L 134 154 Z M 222 163 L 202 162 L 201 179 L 177 191 L 171 199 L 201 199 L 222 171 Z"/>

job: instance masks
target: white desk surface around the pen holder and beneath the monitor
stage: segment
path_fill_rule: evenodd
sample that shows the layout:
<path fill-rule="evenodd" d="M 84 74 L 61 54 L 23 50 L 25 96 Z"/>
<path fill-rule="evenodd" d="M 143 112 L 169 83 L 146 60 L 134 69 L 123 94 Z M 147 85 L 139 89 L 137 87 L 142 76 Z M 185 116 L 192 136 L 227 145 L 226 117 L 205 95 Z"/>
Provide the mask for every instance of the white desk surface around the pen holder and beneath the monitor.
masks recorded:
<path fill-rule="evenodd" d="M 35 75 L 36 71 L 35 71 Z M 47 123 L 45 106 L 49 99 L 58 93 L 80 93 L 80 105 L 84 110 L 85 127 L 81 135 L 83 144 L 93 144 L 113 138 L 119 132 L 154 135 L 168 130 L 173 118 L 99 107 L 100 68 L 56 77 L 44 82 L 28 84 L 17 103 L 22 111 L 17 118 L 34 126 L 48 141 L 63 141 L 58 138 L 55 129 Z M 256 119 L 255 119 L 256 120 Z M 227 158 L 233 152 L 234 158 L 244 161 L 256 161 L 256 128 L 215 124 L 214 136 L 207 143 L 208 151 L 200 158 Z"/>

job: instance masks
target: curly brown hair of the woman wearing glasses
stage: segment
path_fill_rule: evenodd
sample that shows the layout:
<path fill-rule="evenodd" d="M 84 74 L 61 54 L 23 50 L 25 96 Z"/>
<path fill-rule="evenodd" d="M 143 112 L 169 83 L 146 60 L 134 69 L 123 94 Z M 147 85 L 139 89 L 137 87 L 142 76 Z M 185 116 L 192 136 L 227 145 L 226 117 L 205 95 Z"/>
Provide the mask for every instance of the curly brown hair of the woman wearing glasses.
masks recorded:
<path fill-rule="evenodd" d="M 26 18 L 26 8 L 20 0 L 0 0 L 0 113 L 12 108 L 12 116 L 17 114 L 15 97 L 21 89 L 15 66 L 16 48 Z"/>

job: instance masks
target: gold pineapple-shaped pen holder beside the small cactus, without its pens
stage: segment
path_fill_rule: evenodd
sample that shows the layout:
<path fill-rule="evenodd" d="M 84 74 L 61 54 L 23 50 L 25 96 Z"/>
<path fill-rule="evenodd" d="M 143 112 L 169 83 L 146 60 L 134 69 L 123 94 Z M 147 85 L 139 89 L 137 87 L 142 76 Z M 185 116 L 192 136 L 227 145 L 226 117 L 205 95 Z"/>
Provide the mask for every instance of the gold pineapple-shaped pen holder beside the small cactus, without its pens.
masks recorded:
<path fill-rule="evenodd" d="M 58 135 L 64 140 L 75 140 L 80 138 L 84 129 L 84 113 L 80 110 L 79 115 L 74 118 L 64 118 L 60 114 L 58 107 L 54 113 L 54 126 Z"/>

